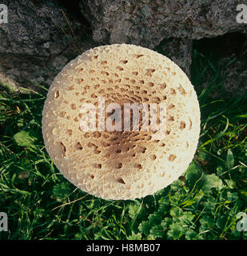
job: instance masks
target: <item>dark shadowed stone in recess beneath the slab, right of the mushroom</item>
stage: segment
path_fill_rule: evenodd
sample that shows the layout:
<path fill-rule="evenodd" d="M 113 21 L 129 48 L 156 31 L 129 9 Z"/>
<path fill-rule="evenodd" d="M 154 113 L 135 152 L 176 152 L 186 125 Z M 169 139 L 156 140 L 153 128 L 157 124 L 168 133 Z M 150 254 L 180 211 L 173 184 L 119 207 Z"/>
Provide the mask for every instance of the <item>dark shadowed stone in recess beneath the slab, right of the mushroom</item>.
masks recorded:
<path fill-rule="evenodd" d="M 225 77 L 222 86 L 212 90 L 212 98 L 238 98 L 247 92 L 247 36 L 233 33 L 217 38 L 203 38 L 194 42 L 194 48 L 209 59 L 214 70 L 220 65 L 220 80 Z M 203 90 L 212 82 L 217 71 L 205 72 L 199 82 L 199 90 Z M 224 71 L 224 73 L 223 73 Z M 213 85 L 217 85 L 217 79 Z"/>

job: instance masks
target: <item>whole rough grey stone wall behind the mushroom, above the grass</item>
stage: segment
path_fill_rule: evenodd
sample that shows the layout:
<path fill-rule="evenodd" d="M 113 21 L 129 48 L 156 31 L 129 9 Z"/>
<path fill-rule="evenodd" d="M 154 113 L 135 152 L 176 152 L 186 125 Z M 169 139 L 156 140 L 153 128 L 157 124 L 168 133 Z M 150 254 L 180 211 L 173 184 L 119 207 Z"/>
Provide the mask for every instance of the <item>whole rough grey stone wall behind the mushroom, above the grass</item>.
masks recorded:
<path fill-rule="evenodd" d="M 156 46 L 189 76 L 193 40 L 247 31 L 246 24 L 236 22 L 237 4 L 247 5 L 247 0 L 77 0 L 71 3 L 70 6 L 78 7 L 78 12 L 81 9 L 81 16 L 90 25 L 61 2 L 66 1 L 2 0 L 9 9 L 9 22 L 0 24 L 0 82 L 16 90 L 20 86 L 38 90 L 37 83 L 48 87 L 62 67 L 78 54 L 94 46 L 122 42 L 150 49 Z M 236 62 L 227 66 L 225 89 L 229 93 L 236 91 L 237 85 L 238 92 L 246 90 L 245 51 L 242 50 L 242 56 L 235 50 L 221 58 L 223 63 L 236 58 Z"/>

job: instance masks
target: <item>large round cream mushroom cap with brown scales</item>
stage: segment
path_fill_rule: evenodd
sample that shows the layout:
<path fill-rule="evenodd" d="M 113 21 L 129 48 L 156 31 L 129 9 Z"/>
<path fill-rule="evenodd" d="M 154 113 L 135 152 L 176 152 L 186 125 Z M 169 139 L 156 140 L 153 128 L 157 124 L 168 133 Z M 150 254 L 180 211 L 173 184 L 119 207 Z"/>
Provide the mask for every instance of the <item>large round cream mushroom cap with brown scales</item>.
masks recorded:
<path fill-rule="evenodd" d="M 164 136 L 142 129 L 152 121 L 151 112 L 143 109 L 139 122 L 127 122 L 131 129 L 123 129 L 122 111 L 116 118 L 113 109 L 133 103 L 145 103 L 147 110 L 153 103 L 165 104 Z M 85 113 L 83 104 L 89 106 Z M 133 112 L 129 110 L 130 118 Z M 153 114 L 161 119 L 161 108 Z M 118 129 L 108 129 L 107 122 Z M 42 134 L 50 158 L 75 186 L 105 199 L 145 197 L 177 180 L 192 161 L 200 134 L 197 94 L 185 73 L 153 50 L 99 46 L 72 60 L 54 79 L 42 113 Z"/>

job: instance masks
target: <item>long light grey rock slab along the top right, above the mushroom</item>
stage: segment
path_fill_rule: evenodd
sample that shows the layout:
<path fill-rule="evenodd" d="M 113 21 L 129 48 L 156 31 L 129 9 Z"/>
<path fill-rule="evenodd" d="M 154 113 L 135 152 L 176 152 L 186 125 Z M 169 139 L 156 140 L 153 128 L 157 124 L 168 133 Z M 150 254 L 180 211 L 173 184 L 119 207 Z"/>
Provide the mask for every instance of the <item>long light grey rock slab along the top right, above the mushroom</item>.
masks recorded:
<path fill-rule="evenodd" d="M 245 1 L 241 1 L 244 3 Z M 237 23 L 239 0 L 81 0 L 82 13 L 101 43 L 133 43 L 153 48 L 164 38 L 200 39 L 247 33 Z"/>

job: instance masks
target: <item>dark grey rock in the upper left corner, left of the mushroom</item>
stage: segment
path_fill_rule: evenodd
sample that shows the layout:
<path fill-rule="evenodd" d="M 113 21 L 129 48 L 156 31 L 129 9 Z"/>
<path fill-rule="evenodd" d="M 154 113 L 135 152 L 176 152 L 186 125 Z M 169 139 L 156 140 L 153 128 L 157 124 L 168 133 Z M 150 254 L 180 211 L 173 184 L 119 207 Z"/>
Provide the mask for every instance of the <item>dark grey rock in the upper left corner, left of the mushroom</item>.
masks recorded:
<path fill-rule="evenodd" d="M 0 82 L 12 88 L 50 86 L 71 59 L 96 46 L 89 29 L 58 2 L 2 0 L 8 23 L 0 25 Z M 66 18 L 70 22 L 66 22 Z"/>

